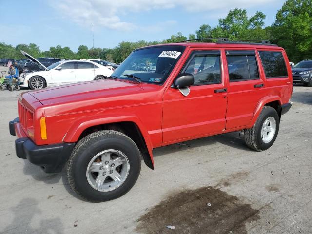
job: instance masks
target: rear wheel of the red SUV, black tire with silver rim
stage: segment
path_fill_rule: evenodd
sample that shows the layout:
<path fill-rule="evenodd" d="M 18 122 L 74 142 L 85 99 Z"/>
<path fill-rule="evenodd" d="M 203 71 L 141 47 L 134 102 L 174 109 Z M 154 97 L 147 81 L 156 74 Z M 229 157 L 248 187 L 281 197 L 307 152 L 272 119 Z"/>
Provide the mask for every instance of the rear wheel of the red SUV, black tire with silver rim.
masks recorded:
<path fill-rule="evenodd" d="M 264 106 L 254 126 L 244 130 L 247 146 L 256 151 L 269 149 L 278 134 L 279 116 L 270 106 Z"/>

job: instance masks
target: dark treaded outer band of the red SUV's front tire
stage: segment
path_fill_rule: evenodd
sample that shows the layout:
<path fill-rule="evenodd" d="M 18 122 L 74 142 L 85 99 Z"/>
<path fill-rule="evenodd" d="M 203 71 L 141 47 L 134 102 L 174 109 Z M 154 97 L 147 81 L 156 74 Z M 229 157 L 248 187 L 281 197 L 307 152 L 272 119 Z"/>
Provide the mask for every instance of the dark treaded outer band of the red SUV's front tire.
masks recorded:
<path fill-rule="evenodd" d="M 71 189 L 78 195 L 80 196 L 82 199 L 84 199 L 85 201 L 89 201 L 89 202 L 98 202 L 92 199 L 88 199 L 86 196 L 82 195 L 77 189 L 76 189 L 76 185 L 75 185 L 75 179 L 73 176 L 73 171 L 74 171 L 74 161 L 75 158 L 78 154 L 78 152 L 80 150 L 86 149 L 88 147 L 89 144 L 92 144 L 94 142 L 97 141 L 98 137 L 103 137 L 103 138 L 112 138 L 112 135 L 114 137 L 125 137 L 127 138 L 132 144 L 133 147 L 137 150 L 137 154 L 141 156 L 141 153 L 136 145 L 136 143 L 127 135 L 114 131 L 114 130 L 101 130 L 98 132 L 94 132 L 91 133 L 89 135 L 87 135 L 86 137 L 83 137 L 75 146 L 71 156 L 69 157 L 68 163 L 67 163 L 67 169 L 66 169 L 66 173 L 67 173 L 67 179 L 68 179 L 68 183 L 71 187 Z M 141 164 L 141 160 L 139 160 L 139 163 Z M 140 165 L 141 166 L 141 165 Z M 137 176 L 138 178 L 138 176 Z M 137 179 L 136 179 L 137 180 Z M 130 189 L 129 189 L 130 190 Z"/>

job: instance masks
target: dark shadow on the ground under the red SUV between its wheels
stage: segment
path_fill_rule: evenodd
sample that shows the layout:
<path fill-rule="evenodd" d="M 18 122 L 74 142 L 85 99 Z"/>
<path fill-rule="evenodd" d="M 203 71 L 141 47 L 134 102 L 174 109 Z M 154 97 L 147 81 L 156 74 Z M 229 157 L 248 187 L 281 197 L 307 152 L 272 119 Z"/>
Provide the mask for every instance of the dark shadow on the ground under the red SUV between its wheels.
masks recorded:
<path fill-rule="evenodd" d="M 232 132 L 159 147 L 154 150 L 153 156 L 163 156 L 165 154 L 187 150 L 190 148 L 192 149 L 202 146 L 212 146 L 216 143 L 221 143 L 223 145 L 234 147 L 240 150 L 253 151 L 245 144 L 244 134 L 242 132 Z"/>

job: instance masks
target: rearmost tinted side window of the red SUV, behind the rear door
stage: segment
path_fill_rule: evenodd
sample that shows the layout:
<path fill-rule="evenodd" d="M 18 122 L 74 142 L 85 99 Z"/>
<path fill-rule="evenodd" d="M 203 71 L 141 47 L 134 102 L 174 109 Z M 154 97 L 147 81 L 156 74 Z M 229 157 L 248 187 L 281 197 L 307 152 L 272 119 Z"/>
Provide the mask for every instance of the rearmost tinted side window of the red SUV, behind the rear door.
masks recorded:
<path fill-rule="evenodd" d="M 281 52 L 259 51 L 266 78 L 287 77 L 287 68 Z"/>

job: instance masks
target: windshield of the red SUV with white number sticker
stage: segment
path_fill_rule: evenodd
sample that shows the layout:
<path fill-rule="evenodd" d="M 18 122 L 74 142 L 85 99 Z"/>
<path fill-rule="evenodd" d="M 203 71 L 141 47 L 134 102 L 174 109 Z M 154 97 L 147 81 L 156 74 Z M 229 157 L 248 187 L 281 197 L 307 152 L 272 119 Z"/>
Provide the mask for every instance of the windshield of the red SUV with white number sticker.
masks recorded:
<path fill-rule="evenodd" d="M 128 76 L 133 75 L 142 82 L 162 84 L 184 49 L 184 46 L 159 46 L 136 50 L 121 63 L 112 76 L 133 80 Z"/>

